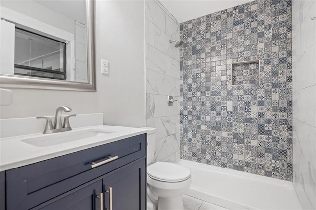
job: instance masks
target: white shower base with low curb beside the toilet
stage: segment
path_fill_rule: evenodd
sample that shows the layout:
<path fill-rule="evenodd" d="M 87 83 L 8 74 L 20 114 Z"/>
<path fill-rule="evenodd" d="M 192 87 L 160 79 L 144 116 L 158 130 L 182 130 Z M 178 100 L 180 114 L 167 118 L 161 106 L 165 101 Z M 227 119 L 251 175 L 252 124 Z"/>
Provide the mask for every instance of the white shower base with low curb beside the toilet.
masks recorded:
<path fill-rule="evenodd" d="M 231 210 L 301 210 L 292 182 L 192 161 L 187 195 Z"/>

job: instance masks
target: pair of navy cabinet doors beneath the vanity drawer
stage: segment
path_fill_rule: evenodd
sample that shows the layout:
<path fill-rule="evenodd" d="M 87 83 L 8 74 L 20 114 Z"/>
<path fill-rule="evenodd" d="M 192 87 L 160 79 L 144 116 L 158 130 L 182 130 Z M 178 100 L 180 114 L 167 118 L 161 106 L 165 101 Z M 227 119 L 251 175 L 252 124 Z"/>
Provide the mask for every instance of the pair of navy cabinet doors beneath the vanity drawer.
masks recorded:
<path fill-rule="evenodd" d="M 146 159 L 132 162 L 32 210 L 101 210 L 100 205 L 103 210 L 145 210 L 145 165 Z"/>

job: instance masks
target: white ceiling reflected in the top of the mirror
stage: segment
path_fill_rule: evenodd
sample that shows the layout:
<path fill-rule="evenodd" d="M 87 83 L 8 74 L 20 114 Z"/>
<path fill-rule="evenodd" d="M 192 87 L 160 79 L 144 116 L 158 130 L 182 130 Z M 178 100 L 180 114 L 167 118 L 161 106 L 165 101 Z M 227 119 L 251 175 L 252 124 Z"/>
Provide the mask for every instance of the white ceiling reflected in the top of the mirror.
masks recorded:
<path fill-rule="evenodd" d="M 81 23 L 85 23 L 85 0 L 34 0 L 41 5 L 70 17 Z"/>

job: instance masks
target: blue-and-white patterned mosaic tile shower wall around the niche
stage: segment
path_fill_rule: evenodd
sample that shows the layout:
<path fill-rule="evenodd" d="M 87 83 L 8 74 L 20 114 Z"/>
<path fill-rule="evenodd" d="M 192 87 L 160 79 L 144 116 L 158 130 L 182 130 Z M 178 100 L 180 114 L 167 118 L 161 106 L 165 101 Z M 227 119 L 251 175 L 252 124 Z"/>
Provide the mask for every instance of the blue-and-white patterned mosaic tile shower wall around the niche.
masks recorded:
<path fill-rule="evenodd" d="M 182 159 L 292 181 L 291 0 L 258 0 L 180 24 Z M 231 64 L 260 60 L 260 84 Z"/>

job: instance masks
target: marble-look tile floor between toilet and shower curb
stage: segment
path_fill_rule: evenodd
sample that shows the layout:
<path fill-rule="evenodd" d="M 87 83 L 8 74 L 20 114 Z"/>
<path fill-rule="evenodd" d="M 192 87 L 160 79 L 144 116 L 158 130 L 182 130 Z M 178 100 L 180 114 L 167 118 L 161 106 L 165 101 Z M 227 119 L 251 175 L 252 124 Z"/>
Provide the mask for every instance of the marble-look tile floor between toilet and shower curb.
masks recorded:
<path fill-rule="evenodd" d="M 229 210 L 191 196 L 183 195 L 182 198 L 185 210 Z"/>

